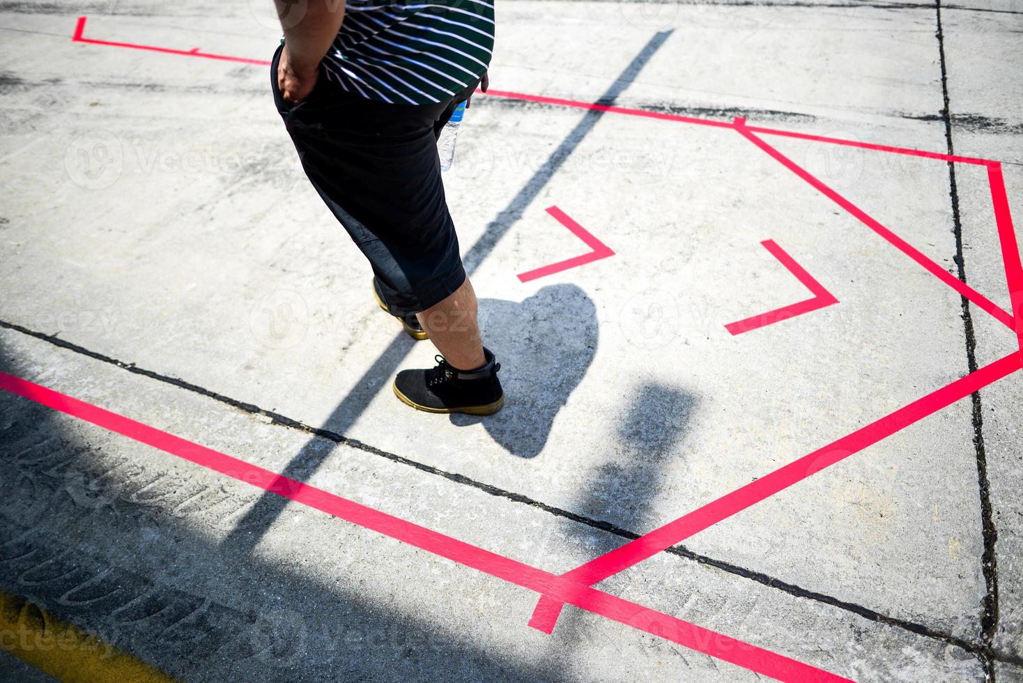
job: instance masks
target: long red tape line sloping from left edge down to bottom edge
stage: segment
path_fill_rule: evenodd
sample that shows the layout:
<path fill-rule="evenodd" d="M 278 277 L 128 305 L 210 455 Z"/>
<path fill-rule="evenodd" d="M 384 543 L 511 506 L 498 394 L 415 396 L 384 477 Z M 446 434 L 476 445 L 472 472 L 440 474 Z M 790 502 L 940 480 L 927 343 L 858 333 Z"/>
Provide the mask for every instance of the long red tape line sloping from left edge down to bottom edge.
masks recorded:
<path fill-rule="evenodd" d="M 696 626 L 656 609 L 643 607 L 635 602 L 575 583 L 549 572 L 445 536 L 426 527 L 381 512 L 27 379 L 0 372 L 0 389 L 231 479 L 251 484 L 258 489 L 269 491 L 307 507 L 397 539 L 458 564 L 479 570 L 509 584 L 543 595 L 554 596 L 562 602 L 574 604 L 587 611 L 758 674 L 794 683 L 808 683 L 810 681 L 846 681 L 848 683 L 849 681 L 847 678 L 836 676 L 816 667 Z"/>

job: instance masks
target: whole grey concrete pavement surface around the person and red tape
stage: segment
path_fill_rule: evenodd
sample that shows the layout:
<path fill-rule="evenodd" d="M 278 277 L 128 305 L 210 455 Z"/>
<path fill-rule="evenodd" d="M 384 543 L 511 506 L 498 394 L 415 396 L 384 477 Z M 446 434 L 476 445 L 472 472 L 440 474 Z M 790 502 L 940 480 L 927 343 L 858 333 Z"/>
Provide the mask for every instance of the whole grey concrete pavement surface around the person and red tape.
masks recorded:
<path fill-rule="evenodd" d="M 965 278 L 965 304 L 730 126 L 544 100 L 996 160 L 1019 217 L 1018 4 L 500 6 L 503 93 L 474 100 L 446 178 L 504 366 L 483 420 L 391 395 L 432 347 L 372 305 L 266 67 L 71 40 L 86 13 L 89 38 L 255 59 L 279 34 L 255 4 L 161 11 L 0 13 L 4 372 L 560 574 L 1019 350 L 977 305 L 1010 308 L 985 167 L 762 135 Z M 615 255 L 522 282 L 587 251 L 550 207 Z M 810 295 L 767 239 L 838 303 L 732 335 Z M 1021 679 L 1021 382 L 599 588 L 854 680 Z M 0 408 L 0 586 L 174 676 L 755 676 L 574 608 L 540 634 L 533 591 Z M 103 582 L 113 597 L 66 599 Z"/>

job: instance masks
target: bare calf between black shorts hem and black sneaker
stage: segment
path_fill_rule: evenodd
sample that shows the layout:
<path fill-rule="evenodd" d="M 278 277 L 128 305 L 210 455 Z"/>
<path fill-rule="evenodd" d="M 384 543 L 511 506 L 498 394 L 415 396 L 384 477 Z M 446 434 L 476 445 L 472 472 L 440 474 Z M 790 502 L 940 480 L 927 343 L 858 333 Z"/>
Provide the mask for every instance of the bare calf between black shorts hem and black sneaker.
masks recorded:
<path fill-rule="evenodd" d="M 437 351 L 459 370 L 475 370 L 486 363 L 476 311 L 476 292 L 466 277 L 447 299 L 416 314 Z"/>

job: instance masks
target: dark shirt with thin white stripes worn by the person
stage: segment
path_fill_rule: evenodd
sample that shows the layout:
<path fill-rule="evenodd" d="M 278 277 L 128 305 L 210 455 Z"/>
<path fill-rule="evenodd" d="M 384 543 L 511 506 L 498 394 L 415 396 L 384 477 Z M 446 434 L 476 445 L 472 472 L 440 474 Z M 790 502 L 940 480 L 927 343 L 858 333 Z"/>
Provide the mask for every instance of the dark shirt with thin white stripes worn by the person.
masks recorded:
<path fill-rule="evenodd" d="M 493 47 L 490 0 L 347 0 L 323 66 L 362 97 L 429 104 L 483 76 Z"/>

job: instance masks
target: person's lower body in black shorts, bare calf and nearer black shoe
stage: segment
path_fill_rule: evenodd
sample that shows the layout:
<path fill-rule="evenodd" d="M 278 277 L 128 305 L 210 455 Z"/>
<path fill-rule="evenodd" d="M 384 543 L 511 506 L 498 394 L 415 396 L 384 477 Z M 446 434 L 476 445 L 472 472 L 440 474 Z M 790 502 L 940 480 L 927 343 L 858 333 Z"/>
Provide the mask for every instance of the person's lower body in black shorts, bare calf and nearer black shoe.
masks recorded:
<path fill-rule="evenodd" d="M 446 357 L 399 372 L 395 395 L 433 413 L 500 410 L 500 364 L 480 346 L 437 158 L 434 124 L 446 105 L 374 102 L 321 79 L 315 96 L 291 106 L 275 78 L 271 88 L 306 175 L 371 264 L 377 298 L 392 315 L 422 313 Z"/>

